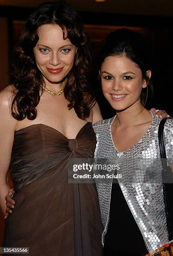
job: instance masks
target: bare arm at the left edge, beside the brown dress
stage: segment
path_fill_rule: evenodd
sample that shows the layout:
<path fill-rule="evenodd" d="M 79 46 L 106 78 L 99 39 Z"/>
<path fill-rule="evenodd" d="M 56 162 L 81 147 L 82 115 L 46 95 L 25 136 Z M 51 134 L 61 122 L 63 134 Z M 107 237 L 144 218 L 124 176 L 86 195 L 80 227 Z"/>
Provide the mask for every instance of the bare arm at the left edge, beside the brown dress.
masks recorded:
<path fill-rule="evenodd" d="M 11 161 L 15 127 L 18 123 L 11 115 L 10 100 L 12 87 L 6 87 L 0 92 L 0 210 L 5 216 L 6 201 L 10 186 L 8 184 L 8 169 Z"/>

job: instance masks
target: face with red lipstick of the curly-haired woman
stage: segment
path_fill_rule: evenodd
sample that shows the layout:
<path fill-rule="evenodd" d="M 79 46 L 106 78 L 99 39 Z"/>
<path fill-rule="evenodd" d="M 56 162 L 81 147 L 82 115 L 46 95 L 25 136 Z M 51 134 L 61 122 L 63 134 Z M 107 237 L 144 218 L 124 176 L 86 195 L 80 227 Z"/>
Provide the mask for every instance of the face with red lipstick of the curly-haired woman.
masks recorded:
<path fill-rule="evenodd" d="M 46 83 L 59 83 L 73 67 L 76 46 L 68 38 L 64 40 L 62 29 L 54 24 L 40 26 L 38 37 L 33 48 L 37 67 Z"/>

